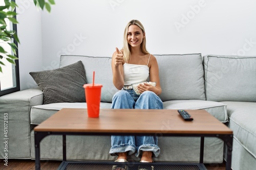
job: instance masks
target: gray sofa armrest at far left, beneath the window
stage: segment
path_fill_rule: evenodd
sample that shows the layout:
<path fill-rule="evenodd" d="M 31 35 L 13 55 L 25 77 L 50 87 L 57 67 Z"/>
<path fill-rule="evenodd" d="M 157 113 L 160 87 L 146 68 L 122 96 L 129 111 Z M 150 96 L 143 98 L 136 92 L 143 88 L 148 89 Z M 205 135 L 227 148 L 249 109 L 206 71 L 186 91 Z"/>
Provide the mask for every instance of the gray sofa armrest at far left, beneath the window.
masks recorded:
<path fill-rule="evenodd" d="M 13 92 L 0 97 L 0 125 L 7 131 L 0 136 L 7 142 L 0 142 L 0 158 L 8 154 L 8 159 L 30 158 L 30 109 L 41 105 L 44 95 L 39 87 Z M 6 116 L 7 115 L 7 116 Z M 2 128 L 1 128 L 2 129 Z M 7 133 L 6 133 L 7 132 Z"/>

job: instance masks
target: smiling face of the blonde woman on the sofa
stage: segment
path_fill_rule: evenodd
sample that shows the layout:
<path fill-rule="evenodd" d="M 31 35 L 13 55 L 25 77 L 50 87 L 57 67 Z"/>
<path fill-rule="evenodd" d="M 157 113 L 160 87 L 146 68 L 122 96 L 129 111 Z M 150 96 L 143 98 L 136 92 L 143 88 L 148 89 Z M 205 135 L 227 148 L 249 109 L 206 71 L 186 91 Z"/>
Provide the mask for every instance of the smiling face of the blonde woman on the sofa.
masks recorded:
<path fill-rule="evenodd" d="M 127 31 L 127 42 L 132 47 L 140 46 L 144 37 L 145 37 L 145 34 L 142 33 L 142 30 L 138 26 L 136 25 L 129 26 Z"/>

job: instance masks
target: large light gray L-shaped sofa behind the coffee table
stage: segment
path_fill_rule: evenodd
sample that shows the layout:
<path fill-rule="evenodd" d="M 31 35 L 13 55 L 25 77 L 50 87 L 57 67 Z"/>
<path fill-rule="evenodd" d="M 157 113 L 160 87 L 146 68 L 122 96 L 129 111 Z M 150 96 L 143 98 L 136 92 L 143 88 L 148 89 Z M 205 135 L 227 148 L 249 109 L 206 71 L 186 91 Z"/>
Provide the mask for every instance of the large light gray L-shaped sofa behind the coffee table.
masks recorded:
<path fill-rule="evenodd" d="M 233 130 L 233 169 L 256 167 L 256 57 L 201 54 L 154 55 L 159 64 L 164 109 L 205 109 Z M 110 108 L 117 91 L 112 83 L 111 57 L 61 56 L 60 67 L 82 61 L 88 83 L 102 84 L 100 108 Z M 31 70 L 33 71 L 33 70 Z M 87 108 L 86 103 L 43 105 L 39 87 L 0 97 L 0 122 L 8 113 L 8 158 L 34 159 L 33 128 L 61 108 Z M 72 114 L 72 113 L 71 113 Z M 4 136 L 4 131 L 0 131 Z M 159 137 L 155 161 L 199 162 L 200 138 Z M 41 141 L 41 159 L 62 159 L 62 138 Z M 67 136 L 69 160 L 115 160 L 109 155 L 110 136 Z M 0 142 L 0 148 L 4 148 Z M 205 138 L 204 162 L 221 163 L 225 153 L 219 138 Z M 4 158 L 4 150 L 0 157 Z M 139 160 L 135 156 L 130 160 Z"/>

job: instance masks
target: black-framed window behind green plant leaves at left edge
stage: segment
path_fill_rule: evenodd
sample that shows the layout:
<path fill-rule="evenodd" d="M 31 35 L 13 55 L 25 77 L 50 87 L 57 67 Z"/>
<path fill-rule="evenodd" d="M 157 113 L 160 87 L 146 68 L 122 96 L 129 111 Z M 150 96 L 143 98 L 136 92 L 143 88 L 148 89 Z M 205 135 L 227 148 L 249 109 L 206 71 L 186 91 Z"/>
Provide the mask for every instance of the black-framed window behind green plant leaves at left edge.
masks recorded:
<path fill-rule="evenodd" d="M 5 6 L 4 1 L 0 1 L 0 6 Z M 7 28 L 8 30 L 14 30 L 17 32 L 17 27 L 12 22 L 7 22 Z M 18 46 L 17 42 L 14 39 L 11 39 L 11 41 Z M 5 51 L 7 51 L 11 55 L 14 55 L 10 45 L 8 45 L 6 42 L 0 41 L 0 43 L 1 43 L 1 46 L 5 49 Z M 16 50 L 16 57 L 18 57 L 17 50 Z M 1 60 L 1 61 L 5 65 L 1 65 L 2 72 L 0 72 L 0 96 L 8 93 L 12 93 L 14 91 L 18 91 L 20 89 L 18 60 L 15 60 L 16 65 L 9 63 L 7 60 Z"/>

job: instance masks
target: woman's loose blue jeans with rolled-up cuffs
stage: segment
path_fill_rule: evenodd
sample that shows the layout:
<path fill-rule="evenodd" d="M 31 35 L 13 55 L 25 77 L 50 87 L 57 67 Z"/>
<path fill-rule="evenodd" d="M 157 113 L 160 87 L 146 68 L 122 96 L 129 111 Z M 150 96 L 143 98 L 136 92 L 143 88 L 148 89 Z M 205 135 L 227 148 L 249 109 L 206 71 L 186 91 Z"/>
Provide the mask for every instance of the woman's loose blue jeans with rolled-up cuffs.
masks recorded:
<path fill-rule="evenodd" d="M 112 109 L 163 109 L 163 102 L 156 93 L 144 91 L 137 95 L 133 89 L 120 90 L 115 93 L 112 100 Z M 112 156 L 117 153 L 127 152 L 128 155 L 134 154 L 141 156 L 141 151 L 153 152 L 153 157 L 157 157 L 160 148 L 157 145 L 157 136 L 111 136 Z"/>

